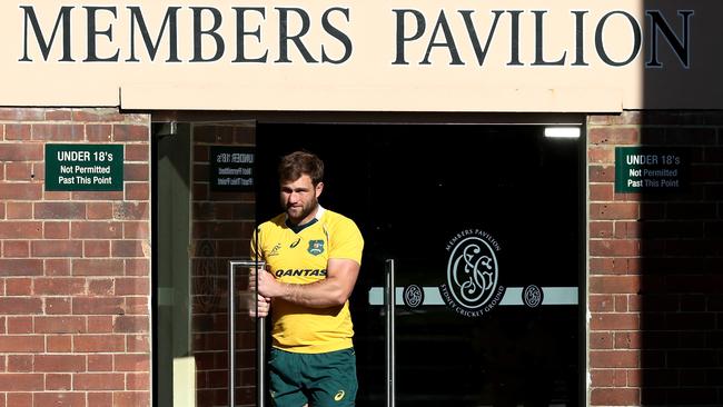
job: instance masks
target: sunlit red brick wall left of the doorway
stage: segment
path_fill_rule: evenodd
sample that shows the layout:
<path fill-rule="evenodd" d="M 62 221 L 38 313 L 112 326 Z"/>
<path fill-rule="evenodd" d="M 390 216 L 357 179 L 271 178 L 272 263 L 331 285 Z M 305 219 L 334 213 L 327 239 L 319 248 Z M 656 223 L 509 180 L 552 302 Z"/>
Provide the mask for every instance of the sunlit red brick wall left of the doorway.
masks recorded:
<path fill-rule="evenodd" d="M 0 108 L 0 406 L 150 404 L 149 116 Z M 47 192 L 44 145 L 125 145 L 125 188 Z"/>

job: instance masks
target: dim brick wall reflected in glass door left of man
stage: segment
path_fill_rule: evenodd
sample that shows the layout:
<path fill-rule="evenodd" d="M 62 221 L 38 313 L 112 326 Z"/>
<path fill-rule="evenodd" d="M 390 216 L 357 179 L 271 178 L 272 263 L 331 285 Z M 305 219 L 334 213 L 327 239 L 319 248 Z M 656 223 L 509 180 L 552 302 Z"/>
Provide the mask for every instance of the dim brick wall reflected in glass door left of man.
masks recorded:
<path fill-rule="evenodd" d="M 198 406 L 228 404 L 228 260 L 249 257 L 255 225 L 254 192 L 218 192 L 209 187 L 211 146 L 254 146 L 252 127 L 196 126 L 192 167 L 192 347 L 198 366 Z M 240 274 L 237 276 L 241 277 Z M 244 288 L 239 278 L 237 289 Z M 240 306 L 240 305 L 239 305 Z M 247 311 L 236 318 L 236 404 L 256 403 L 256 334 Z"/>

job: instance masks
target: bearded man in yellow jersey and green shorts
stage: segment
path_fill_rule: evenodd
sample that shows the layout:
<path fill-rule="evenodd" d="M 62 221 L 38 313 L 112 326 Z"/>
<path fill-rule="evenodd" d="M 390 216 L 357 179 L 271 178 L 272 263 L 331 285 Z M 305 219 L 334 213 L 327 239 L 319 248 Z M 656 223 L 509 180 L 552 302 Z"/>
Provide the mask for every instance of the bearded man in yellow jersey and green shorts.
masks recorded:
<path fill-rule="evenodd" d="M 271 309 L 269 386 L 279 407 L 354 406 L 356 398 L 348 298 L 364 239 L 354 221 L 319 205 L 323 178 L 324 162 L 315 155 L 285 156 L 285 212 L 261 224 L 251 242 L 251 255 L 267 265 L 250 276 L 250 290 L 258 290 L 251 315 Z"/>

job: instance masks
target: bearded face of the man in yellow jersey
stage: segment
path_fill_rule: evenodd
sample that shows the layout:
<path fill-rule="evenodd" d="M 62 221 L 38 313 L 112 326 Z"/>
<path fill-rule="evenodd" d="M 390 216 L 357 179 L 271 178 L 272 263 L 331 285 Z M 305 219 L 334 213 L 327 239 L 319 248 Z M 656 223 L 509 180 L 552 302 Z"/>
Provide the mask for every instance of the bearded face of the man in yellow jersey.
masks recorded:
<path fill-rule="evenodd" d="M 311 178 L 303 175 L 295 181 L 281 182 L 281 206 L 294 225 L 306 224 L 315 215 L 319 205 L 318 197 L 324 189 L 324 182 L 314 187 Z"/>

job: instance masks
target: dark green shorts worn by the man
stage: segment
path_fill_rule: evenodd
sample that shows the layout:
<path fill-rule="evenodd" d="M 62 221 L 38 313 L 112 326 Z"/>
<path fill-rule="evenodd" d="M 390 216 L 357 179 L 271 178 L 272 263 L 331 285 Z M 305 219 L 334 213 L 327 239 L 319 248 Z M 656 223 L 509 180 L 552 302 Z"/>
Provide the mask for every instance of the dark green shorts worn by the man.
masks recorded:
<path fill-rule="evenodd" d="M 358 388 L 354 348 L 325 354 L 271 348 L 268 365 L 274 406 L 354 406 Z"/>

